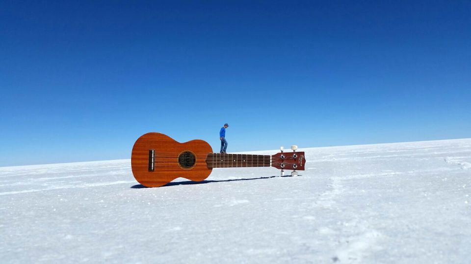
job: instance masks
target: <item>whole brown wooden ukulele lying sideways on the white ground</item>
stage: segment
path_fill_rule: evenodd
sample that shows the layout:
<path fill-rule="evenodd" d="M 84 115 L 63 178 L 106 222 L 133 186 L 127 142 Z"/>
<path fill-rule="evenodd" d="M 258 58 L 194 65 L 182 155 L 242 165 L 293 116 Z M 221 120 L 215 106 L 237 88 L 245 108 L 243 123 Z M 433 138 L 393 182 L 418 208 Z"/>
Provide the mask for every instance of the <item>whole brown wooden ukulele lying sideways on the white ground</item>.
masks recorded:
<path fill-rule="evenodd" d="M 206 179 L 213 168 L 275 167 L 282 170 L 304 171 L 304 152 L 281 152 L 274 155 L 219 154 L 212 153 L 206 141 L 195 139 L 179 143 L 171 137 L 151 132 L 142 135 L 134 143 L 131 154 L 132 174 L 147 187 L 158 187 L 183 177 L 200 181 Z"/>

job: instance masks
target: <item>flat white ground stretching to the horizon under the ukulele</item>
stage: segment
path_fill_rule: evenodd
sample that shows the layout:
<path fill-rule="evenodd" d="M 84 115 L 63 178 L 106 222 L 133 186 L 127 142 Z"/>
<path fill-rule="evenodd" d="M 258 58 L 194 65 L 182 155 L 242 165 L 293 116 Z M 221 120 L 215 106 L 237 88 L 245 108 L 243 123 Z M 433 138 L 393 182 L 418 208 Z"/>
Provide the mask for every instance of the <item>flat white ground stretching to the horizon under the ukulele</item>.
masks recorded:
<path fill-rule="evenodd" d="M 129 159 L 0 168 L 0 262 L 470 263 L 471 139 L 300 151 L 159 188 Z"/>

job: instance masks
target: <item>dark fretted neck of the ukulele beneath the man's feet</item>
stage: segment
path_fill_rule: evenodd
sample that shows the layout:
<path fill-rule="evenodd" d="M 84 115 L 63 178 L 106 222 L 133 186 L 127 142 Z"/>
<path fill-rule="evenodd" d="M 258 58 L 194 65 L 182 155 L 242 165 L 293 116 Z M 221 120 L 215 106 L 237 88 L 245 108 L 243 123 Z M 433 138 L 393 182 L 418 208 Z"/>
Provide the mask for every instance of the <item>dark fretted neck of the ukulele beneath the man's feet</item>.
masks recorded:
<path fill-rule="evenodd" d="M 270 167 L 269 155 L 209 153 L 208 168 Z"/>

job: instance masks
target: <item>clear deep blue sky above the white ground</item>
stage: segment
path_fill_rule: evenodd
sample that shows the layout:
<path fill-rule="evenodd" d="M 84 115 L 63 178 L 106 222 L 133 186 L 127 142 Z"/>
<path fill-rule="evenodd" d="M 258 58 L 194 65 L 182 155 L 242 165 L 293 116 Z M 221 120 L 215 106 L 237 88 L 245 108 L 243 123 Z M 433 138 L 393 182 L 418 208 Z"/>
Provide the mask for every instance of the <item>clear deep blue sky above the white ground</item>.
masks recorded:
<path fill-rule="evenodd" d="M 0 166 L 471 137 L 470 1 L 0 1 Z"/>

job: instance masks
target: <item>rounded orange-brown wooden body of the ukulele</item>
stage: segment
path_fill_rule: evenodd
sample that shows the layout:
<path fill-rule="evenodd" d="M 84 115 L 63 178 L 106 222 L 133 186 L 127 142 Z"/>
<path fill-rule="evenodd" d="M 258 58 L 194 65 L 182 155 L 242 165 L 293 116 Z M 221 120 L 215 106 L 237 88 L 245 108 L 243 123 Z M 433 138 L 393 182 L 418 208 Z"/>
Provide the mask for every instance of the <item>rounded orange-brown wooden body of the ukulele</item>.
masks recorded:
<path fill-rule="evenodd" d="M 147 187 L 162 186 L 178 177 L 201 181 L 212 171 L 206 163 L 209 153 L 212 148 L 204 140 L 180 143 L 162 133 L 147 133 L 132 147 L 132 174 Z"/>

